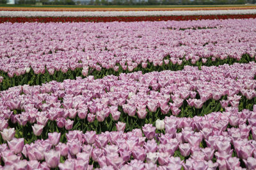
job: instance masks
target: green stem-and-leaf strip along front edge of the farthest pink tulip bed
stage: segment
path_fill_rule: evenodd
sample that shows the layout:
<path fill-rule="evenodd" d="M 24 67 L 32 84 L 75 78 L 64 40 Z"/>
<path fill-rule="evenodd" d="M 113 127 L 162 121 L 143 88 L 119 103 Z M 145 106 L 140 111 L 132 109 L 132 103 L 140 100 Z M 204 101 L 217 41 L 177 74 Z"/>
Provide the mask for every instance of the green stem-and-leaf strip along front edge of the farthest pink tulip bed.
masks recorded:
<path fill-rule="evenodd" d="M 169 56 L 166 57 L 163 61 L 163 65 L 154 65 L 154 63 L 147 63 L 147 66 L 145 65 L 138 65 L 134 70 L 122 70 L 122 68 L 118 67 L 118 70 L 115 70 L 113 68 L 102 68 L 100 70 L 95 70 L 93 68 L 88 68 L 88 71 L 84 71 L 83 68 L 76 68 L 75 70 L 59 70 L 59 71 L 52 71 L 50 70 L 41 70 L 40 73 L 35 73 L 33 69 L 26 68 L 26 70 L 22 70 L 22 72 L 15 72 L 15 74 L 10 75 L 10 73 L 5 73 L 0 71 L 0 91 L 8 89 L 13 86 L 19 86 L 28 84 L 30 86 L 34 85 L 41 85 L 45 82 L 50 81 L 58 81 L 62 82 L 65 79 L 76 79 L 76 77 L 87 77 L 89 75 L 93 75 L 94 79 L 102 79 L 106 75 L 120 75 L 120 73 L 131 73 L 131 72 L 138 72 L 141 71 L 142 73 L 148 73 L 153 71 L 161 72 L 163 70 L 182 70 L 184 66 L 198 66 L 199 69 L 201 69 L 201 66 L 219 66 L 219 65 L 232 65 L 234 63 L 249 63 L 250 61 L 255 61 L 254 58 L 250 58 L 248 54 L 245 54 L 241 57 L 240 60 L 232 59 L 232 58 L 226 58 L 226 59 L 215 59 L 215 58 L 209 58 L 209 59 L 200 59 L 199 61 L 196 61 L 195 64 L 192 64 L 191 61 L 181 61 L 177 62 L 176 60 L 168 61 Z M 44 68 L 42 68 L 44 69 Z M 25 73 L 26 72 L 26 73 Z M 11 76 L 11 77 L 9 77 Z M 13 77 L 12 77 L 13 76 Z"/>

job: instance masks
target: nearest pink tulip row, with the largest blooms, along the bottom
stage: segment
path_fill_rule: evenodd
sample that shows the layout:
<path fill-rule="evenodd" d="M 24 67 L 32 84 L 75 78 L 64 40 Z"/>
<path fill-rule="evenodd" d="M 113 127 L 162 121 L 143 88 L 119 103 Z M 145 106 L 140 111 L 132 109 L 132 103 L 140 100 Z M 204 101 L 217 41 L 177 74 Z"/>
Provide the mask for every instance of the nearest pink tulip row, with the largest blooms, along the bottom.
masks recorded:
<path fill-rule="evenodd" d="M 256 105 L 255 105 L 256 106 Z M 255 169 L 256 107 L 227 107 L 203 117 L 166 117 L 156 127 L 96 134 L 49 133 L 24 144 L 13 128 L 4 128 L 0 144 L 3 169 Z M 246 123 L 248 122 L 249 125 Z M 120 122 L 119 122 L 120 123 Z M 242 167 L 241 167 L 242 166 Z"/>

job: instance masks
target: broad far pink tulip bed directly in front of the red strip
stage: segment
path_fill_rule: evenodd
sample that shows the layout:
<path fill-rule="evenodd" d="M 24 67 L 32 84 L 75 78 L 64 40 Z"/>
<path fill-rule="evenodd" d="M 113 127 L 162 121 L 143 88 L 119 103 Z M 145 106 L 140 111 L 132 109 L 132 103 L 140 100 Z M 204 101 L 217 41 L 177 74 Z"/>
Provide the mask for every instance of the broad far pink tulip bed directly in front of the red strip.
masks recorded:
<path fill-rule="evenodd" d="M 255 60 L 255 24 L 255 19 L 4 23 L 0 88 L 82 75 L 248 63 Z"/>

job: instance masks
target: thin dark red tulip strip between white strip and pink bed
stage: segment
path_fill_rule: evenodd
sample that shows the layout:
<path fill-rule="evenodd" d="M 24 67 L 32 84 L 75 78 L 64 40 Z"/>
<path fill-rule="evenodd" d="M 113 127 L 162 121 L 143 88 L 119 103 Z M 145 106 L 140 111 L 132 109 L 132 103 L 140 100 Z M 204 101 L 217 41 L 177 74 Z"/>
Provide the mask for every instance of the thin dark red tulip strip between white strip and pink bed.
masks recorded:
<path fill-rule="evenodd" d="M 0 17 L 3 22 L 134 22 L 156 20 L 202 20 L 202 19 L 249 19 L 249 15 L 187 15 L 187 16 L 145 16 L 145 17 Z"/>

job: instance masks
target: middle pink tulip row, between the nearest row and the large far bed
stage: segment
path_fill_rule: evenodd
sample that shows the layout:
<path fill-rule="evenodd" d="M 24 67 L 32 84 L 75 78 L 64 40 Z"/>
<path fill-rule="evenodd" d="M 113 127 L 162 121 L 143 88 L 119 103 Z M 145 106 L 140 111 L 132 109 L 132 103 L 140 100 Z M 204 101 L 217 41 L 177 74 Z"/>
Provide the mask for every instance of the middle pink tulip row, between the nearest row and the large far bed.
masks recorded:
<path fill-rule="evenodd" d="M 177 72 L 122 73 L 119 77 L 108 75 L 95 80 L 89 76 L 42 86 L 16 86 L 0 93 L 0 130 L 9 126 L 8 120 L 12 122 L 10 125 L 18 123 L 22 127 L 35 123 L 33 127 L 41 129 L 40 135 L 50 120 L 67 130 L 73 128 L 74 121 L 74 127 L 83 127 L 80 120 L 88 123 L 97 120 L 112 129 L 113 121 L 120 118 L 138 121 L 147 117 L 141 122 L 154 124 L 155 118 L 170 113 L 181 117 L 203 116 L 230 105 L 239 110 L 252 110 L 256 101 L 255 75 L 256 63 L 252 62 L 202 66 L 202 70 L 186 66 Z M 129 124 L 129 130 L 134 128 L 132 122 Z"/>

